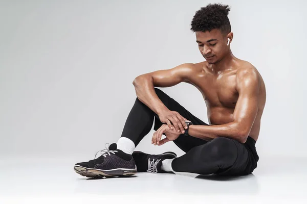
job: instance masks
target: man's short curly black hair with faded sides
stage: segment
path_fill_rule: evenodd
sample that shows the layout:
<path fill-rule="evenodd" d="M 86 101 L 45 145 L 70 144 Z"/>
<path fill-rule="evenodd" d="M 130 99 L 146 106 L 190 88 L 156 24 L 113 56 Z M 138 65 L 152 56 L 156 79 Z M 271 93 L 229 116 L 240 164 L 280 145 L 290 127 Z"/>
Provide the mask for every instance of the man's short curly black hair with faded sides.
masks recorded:
<path fill-rule="evenodd" d="M 226 36 L 231 32 L 231 26 L 227 17 L 230 8 L 228 5 L 222 4 L 208 4 L 196 11 L 192 22 L 191 31 L 211 31 L 218 29 Z"/>

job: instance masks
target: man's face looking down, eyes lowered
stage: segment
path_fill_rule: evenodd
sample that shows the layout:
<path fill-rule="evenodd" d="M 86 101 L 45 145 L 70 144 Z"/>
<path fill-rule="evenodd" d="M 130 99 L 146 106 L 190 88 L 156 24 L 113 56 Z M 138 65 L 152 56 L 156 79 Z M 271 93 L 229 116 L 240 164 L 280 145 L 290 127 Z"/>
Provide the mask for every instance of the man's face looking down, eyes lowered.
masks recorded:
<path fill-rule="evenodd" d="M 196 31 L 195 33 L 200 52 L 209 64 L 215 64 L 221 61 L 227 54 L 229 50 L 227 42 L 231 33 L 225 37 L 218 29 L 213 29 L 210 32 Z"/>

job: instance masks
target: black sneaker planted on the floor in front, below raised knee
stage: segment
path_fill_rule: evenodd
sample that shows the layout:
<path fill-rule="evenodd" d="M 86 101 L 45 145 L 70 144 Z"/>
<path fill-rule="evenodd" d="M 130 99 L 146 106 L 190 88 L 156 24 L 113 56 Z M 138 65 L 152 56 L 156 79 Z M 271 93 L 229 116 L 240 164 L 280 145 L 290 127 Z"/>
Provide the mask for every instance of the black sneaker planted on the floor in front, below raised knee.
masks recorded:
<path fill-rule="evenodd" d="M 109 148 L 100 150 L 100 152 L 104 152 L 104 154 L 97 159 L 75 164 L 74 170 L 86 177 L 130 176 L 137 173 L 133 157 L 117 149 L 116 143 L 109 145 Z"/>

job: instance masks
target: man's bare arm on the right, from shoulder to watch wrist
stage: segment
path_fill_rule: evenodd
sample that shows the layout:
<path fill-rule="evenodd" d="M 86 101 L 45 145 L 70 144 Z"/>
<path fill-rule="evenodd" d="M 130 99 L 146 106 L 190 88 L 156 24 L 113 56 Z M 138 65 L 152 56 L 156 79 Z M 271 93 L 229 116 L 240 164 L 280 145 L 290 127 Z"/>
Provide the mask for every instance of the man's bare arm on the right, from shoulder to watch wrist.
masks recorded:
<path fill-rule="evenodd" d="M 228 137 L 245 143 L 258 110 L 259 75 L 254 69 L 237 72 L 238 100 L 233 112 L 233 122 L 218 125 L 189 125 L 189 135 L 201 139 Z"/>

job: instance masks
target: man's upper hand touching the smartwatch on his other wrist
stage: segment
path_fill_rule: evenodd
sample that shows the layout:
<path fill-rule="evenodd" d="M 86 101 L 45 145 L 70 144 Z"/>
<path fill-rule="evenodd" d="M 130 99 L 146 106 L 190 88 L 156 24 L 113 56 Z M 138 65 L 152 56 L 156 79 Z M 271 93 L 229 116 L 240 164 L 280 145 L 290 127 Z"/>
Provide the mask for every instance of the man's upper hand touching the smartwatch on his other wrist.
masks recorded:
<path fill-rule="evenodd" d="M 185 120 L 189 120 L 181 116 L 177 111 L 166 110 L 160 113 L 158 116 L 160 121 L 166 123 L 171 130 L 183 134 L 184 129 L 187 129 Z"/>

